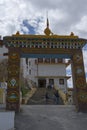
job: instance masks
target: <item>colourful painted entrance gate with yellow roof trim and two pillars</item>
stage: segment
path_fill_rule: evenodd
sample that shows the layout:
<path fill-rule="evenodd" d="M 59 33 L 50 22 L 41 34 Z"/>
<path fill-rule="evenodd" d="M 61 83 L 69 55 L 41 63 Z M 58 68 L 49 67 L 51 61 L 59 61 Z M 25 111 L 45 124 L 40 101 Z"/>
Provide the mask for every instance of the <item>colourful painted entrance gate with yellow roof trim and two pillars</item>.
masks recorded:
<path fill-rule="evenodd" d="M 48 29 L 48 28 L 47 28 Z M 74 102 L 78 111 L 87 112 L 87 86 L 82 47 L 87 40 L 71 33 L 68 36 L 21 35 L 17 32 L 3 38 L 8 48 L 8 88 L 6 109 L 20 111 L 20 58 L 70 58 L 74 86 Z"/>

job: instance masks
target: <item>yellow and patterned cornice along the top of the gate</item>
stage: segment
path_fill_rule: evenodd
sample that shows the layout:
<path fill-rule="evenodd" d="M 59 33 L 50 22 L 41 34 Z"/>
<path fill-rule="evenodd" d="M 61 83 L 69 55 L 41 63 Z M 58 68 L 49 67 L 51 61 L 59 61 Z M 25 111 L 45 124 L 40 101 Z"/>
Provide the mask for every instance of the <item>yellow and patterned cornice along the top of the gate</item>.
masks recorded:
<path fill-rule="evenodd" d="M 64 49 L 80 49 L 87 40 L 81 38 L 59 38 L 59 37 L 4 37 L 4 45 L 6 47 L 21 48 L 64 48 Z"/>

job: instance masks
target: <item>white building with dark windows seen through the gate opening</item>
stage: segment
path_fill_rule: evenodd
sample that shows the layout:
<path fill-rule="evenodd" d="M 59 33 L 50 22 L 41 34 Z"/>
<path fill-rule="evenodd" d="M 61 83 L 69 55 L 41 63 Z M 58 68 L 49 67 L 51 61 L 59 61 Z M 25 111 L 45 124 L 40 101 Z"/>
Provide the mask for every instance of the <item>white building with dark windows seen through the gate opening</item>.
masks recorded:
<path fill-rule="evenodd" d="M 29 58 L 25 59 L 27 78 L 38 87 L 53 85 L 59 87 L 64 93 L 67 92 L 65 59 L 61 58 Z"/>

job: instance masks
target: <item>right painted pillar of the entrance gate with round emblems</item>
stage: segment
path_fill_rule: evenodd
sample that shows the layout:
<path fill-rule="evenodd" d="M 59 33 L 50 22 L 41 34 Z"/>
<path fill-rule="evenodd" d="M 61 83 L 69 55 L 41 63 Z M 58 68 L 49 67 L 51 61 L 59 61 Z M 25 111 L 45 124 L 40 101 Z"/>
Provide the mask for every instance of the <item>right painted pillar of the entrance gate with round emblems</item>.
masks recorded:
<path fill-rule="evenodd" d="M 82 50 L 77 50 L 73 53 L 72 76 L 74 86 L 74 101 L 77 111 L 87 112 L 87 86 Z"/>

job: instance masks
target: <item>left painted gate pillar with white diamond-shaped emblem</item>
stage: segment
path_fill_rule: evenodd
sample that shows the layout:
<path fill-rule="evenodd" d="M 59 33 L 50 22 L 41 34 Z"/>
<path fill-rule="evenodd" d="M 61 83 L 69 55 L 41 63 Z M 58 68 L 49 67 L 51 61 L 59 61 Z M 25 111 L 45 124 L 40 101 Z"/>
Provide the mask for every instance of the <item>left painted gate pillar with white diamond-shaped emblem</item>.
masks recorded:
<path fill-rule="evenodd" d="M 20 111 L 20 52 L 16 48 L 9 48 L 8 58 L 8 86 L 6 109 Z"/>

